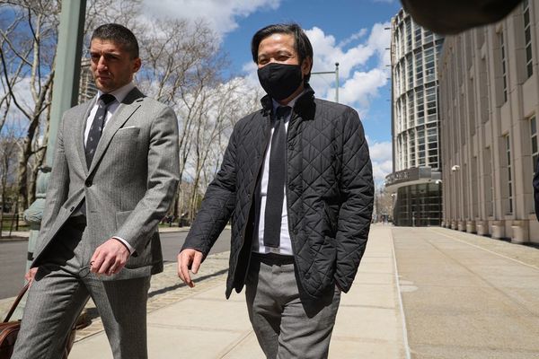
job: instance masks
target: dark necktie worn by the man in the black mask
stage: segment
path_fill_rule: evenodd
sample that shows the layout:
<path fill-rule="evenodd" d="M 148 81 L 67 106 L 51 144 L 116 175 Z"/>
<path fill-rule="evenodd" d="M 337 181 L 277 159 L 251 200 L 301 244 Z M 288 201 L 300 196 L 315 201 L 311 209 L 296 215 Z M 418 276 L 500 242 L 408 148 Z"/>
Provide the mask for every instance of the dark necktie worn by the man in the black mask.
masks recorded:
<path fill-rule="evenodd" d="M 276 111 L 275 127 L 271 136 L 270 171 L 264 215 L 264 246 L 278 248 L 280 227 L 287 179 L 287 128 L 285 120 L 292 109 L 279 106 Z"/>

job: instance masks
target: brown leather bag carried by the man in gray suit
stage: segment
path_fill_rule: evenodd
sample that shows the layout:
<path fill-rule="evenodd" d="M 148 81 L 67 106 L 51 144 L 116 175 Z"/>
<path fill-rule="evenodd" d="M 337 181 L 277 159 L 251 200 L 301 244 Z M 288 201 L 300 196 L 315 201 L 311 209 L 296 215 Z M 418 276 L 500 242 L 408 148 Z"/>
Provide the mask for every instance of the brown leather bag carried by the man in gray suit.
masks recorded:
<path fill-rule="evenodd" d="M 24 285 L 19 295 L 13 302 L 13 305 L 7 315 L 5 316 L 4 322 L 0 323 L 0 359 L 10 359 L 13 354 L 13 347 L 15 346 L 15 340 L 17 340 L 17 335 L 19 334 L 19 329 L 21 328 L 21 321 L 9 321 L 13 315 L 13 311 L 21 302 L 22 296 L 28 290 L 30 285 Z M 71 351 L 71 347 L 75 342 L 75 328 L 71 330 L 69 336 L 66 340 L 66 347 L 64 348 L 64 355 L 62 359 L 67 359 L 67 355 Z"/>

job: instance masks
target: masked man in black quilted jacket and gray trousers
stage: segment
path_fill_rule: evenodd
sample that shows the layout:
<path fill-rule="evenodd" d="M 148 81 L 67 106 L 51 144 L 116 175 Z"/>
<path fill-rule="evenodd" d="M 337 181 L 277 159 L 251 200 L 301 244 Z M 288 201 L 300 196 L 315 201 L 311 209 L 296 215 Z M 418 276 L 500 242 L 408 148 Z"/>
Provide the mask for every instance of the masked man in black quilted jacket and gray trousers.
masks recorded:
<path fill-rule="evenodd" d="M 314 98 L 313 48 L 296 24 L 252 38 L 268 93 L 234 127 L 223 164 L 178 255 L 193 286 L 232 219 L 226 298 L 245 285 L 252 327 L 268 358 L 325 358 L 340 302 L 358 271 L 373 178 L 358 113 Z"/>

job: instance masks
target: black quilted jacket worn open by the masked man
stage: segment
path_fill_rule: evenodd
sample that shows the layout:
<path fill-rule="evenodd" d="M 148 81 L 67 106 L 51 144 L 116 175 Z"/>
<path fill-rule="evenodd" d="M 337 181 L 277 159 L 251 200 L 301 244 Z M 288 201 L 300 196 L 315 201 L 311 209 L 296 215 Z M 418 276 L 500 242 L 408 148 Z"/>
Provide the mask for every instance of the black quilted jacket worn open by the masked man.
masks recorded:
<path fill-rule="evenodd" d="M 240 292 L 251 258 L 257 177 L 270 138 L 271 100 L 234 127 L 220 171 L 208 187 L 183 249 L 204 256 L 232 216 L 226 298 Z M 314 99 L 296 101 L 287 129 L 288 229 L 296 274 L 318 297 L 335 281 L 348 292 L 365 246 L 373 207 L 372 168 L 358 113 Z"/>

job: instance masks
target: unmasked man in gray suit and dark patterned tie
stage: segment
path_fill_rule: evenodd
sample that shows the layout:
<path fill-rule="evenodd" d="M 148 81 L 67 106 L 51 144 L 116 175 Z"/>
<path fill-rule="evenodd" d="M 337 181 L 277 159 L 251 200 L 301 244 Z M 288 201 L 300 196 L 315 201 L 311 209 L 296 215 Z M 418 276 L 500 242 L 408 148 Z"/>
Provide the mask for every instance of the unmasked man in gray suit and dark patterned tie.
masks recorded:
<path fill-rule="evenodd" d="M 89 297 L 114 358 L 147 357 L 146 300 L 163 270 L 157 224 L 178 185 L 178 124 L 132 83 L 141 61 L 131 31 L 100 26 L 90 54 L 99 92 L 58 129 L 14 359 L 60 358 Z"/>

